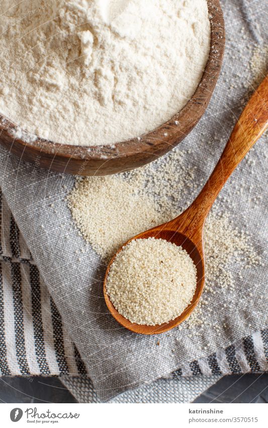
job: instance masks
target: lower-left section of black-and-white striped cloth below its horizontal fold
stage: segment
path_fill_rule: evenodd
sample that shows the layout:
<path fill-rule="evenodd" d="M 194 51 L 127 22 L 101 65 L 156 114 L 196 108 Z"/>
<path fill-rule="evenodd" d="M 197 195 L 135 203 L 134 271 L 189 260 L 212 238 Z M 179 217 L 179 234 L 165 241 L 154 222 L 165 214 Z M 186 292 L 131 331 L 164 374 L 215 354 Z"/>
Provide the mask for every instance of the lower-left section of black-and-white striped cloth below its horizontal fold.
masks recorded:
<path fill-rule="evenodd" d="M 38 269 L 9 259 L 0 262 L 0 371 L 0 376 L 87 376 Z"/>

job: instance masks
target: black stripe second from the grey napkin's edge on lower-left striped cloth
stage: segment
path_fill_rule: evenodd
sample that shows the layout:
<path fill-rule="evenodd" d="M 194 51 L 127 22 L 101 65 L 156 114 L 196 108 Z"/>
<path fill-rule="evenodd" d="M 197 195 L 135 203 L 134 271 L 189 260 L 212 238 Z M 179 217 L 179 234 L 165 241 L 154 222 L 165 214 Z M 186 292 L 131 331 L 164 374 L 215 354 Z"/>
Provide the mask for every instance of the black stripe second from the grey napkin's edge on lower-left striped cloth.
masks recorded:
<path fill-rule="evenodd" d="M 66 375 L 68 374 L 68 364 L 65 358 L 62 320 L 61 320 L 59 311 L 57 310 L 57 307 L 51 297 L 50 297 L 50 308 L 51 308 L 53 339 L 54 339 L 54 349 L 56 353 L 56 360 L 58 363 L 60 374 Z"/>

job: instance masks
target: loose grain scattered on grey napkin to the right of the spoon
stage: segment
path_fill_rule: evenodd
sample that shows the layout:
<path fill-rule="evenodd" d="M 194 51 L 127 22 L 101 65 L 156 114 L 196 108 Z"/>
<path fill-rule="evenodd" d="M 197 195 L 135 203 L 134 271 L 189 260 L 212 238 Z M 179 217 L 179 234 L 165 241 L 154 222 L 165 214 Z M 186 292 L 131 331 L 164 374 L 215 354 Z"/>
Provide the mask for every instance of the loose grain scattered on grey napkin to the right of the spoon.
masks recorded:
<path fill-rule="evenodd" d="M 242 271 L 261 264 L 260 257 L 250 244 L 250 236 L 239 230 L 227 213 L 212 212 L 205 225 L 206 279 L 200 304 L 187 320 L 189 328 L 202 325 L 213 313 L 210 305 L 213 299 L 221 298 L 223 290 L 228 290 L 229 309 L 233 304 L 233 293 L 237 291 L 237 281 L 231 273 L 230 266 L 242 265 L 236 272 L 242 278 Z M 263 298 L 262 295 L 259 296 Z M 179 327 L 181 328 L 181 327 Z M 213 328 L 219 331 L 220 326 Z"/>

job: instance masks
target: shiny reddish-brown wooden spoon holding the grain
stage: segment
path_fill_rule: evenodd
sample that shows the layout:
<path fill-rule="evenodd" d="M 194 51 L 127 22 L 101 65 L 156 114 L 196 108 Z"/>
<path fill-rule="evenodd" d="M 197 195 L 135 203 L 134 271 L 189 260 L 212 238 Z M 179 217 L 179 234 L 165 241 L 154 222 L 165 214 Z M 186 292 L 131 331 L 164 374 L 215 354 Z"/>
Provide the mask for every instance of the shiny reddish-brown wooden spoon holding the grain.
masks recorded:
<path fill-rule="evenodd" d="M 104 279 L 104 296 L 107 307 L 113 317 L 128 330 L 142 334 L 157 334 L 166 332 L 181 324 L 195 309 L 203 291 L 205 281 L 205 256 L 203 245 L 203 231 L 208 213 L 223 188 L 225 182 L 232 174 L 236 166 L 245 157 L 253 144 L 268 126 L 268 76 L 262 81 L 258 89 L 250 98 L 243 110 L 228 143 L 217 163 L 214 171 L 208 179 L 203 190 L 193 204 L 180 216 L 168 223 L 161 224 L 146 232 L 129 239 L 127 245 L 133 239 L 146 239 L 149 237 L 162 238 L 182 246 L 193 259 L 197 268 L 197 288 L 190 305 L 177 318 L 166 324 L 146 326 L 133 324 L 114 308 L 106 292 L 106 282 L 110 267 L 122 250 L 122 247 L 108 265 Z"/>

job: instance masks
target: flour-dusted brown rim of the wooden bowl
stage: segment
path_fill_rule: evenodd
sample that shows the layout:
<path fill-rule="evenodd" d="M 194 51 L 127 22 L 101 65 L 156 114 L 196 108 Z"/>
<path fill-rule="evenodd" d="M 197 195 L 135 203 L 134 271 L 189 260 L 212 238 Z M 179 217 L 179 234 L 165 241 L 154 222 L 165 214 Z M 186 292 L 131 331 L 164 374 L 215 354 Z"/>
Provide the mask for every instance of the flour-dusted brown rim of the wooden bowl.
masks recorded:
<path fill-rule="evenodd" d="M 109 161 L 114 158 L 128 158 L 133 154 L 146 156 L 164 154 L 182 141 L 198 123 L 206 110 L 216 86 L 225 49 L 225 26 L 219 0 L 207 0 L 211 23 L 211 43 L 207 65 L 199 86 L 186 105 L 167 122 L 151 132 L 135 138 L 103 146 L 79 146 L 52 142 L 39 138 L 18 127 L 12 120 L 0 114 L 0 130 L 4 139 L 26 146 L 35 152 L 42 152 L 54 158 L 76 161 Z M 2 141 L 0 141 L 1 143 Z M 12 151 L 12 149 L 11 149 Z M 148 161 L 147 161 L 148 163 Z"/>

